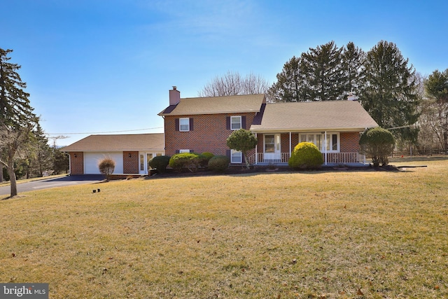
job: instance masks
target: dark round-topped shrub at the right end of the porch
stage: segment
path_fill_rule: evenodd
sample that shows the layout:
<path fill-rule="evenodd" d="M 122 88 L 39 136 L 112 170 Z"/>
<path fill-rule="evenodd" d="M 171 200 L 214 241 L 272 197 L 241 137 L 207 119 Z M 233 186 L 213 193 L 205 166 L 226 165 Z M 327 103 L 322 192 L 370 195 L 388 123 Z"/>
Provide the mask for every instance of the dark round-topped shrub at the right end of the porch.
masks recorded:
<path fill-rule="evenodd" d="M 360 152 L 372 158 L 375 167 L 388 165 L 388 155 L 391 155 L 395 147 L 393 134 L 382 127 L 374 127 L 364 132 L 360 139 Z"/>

